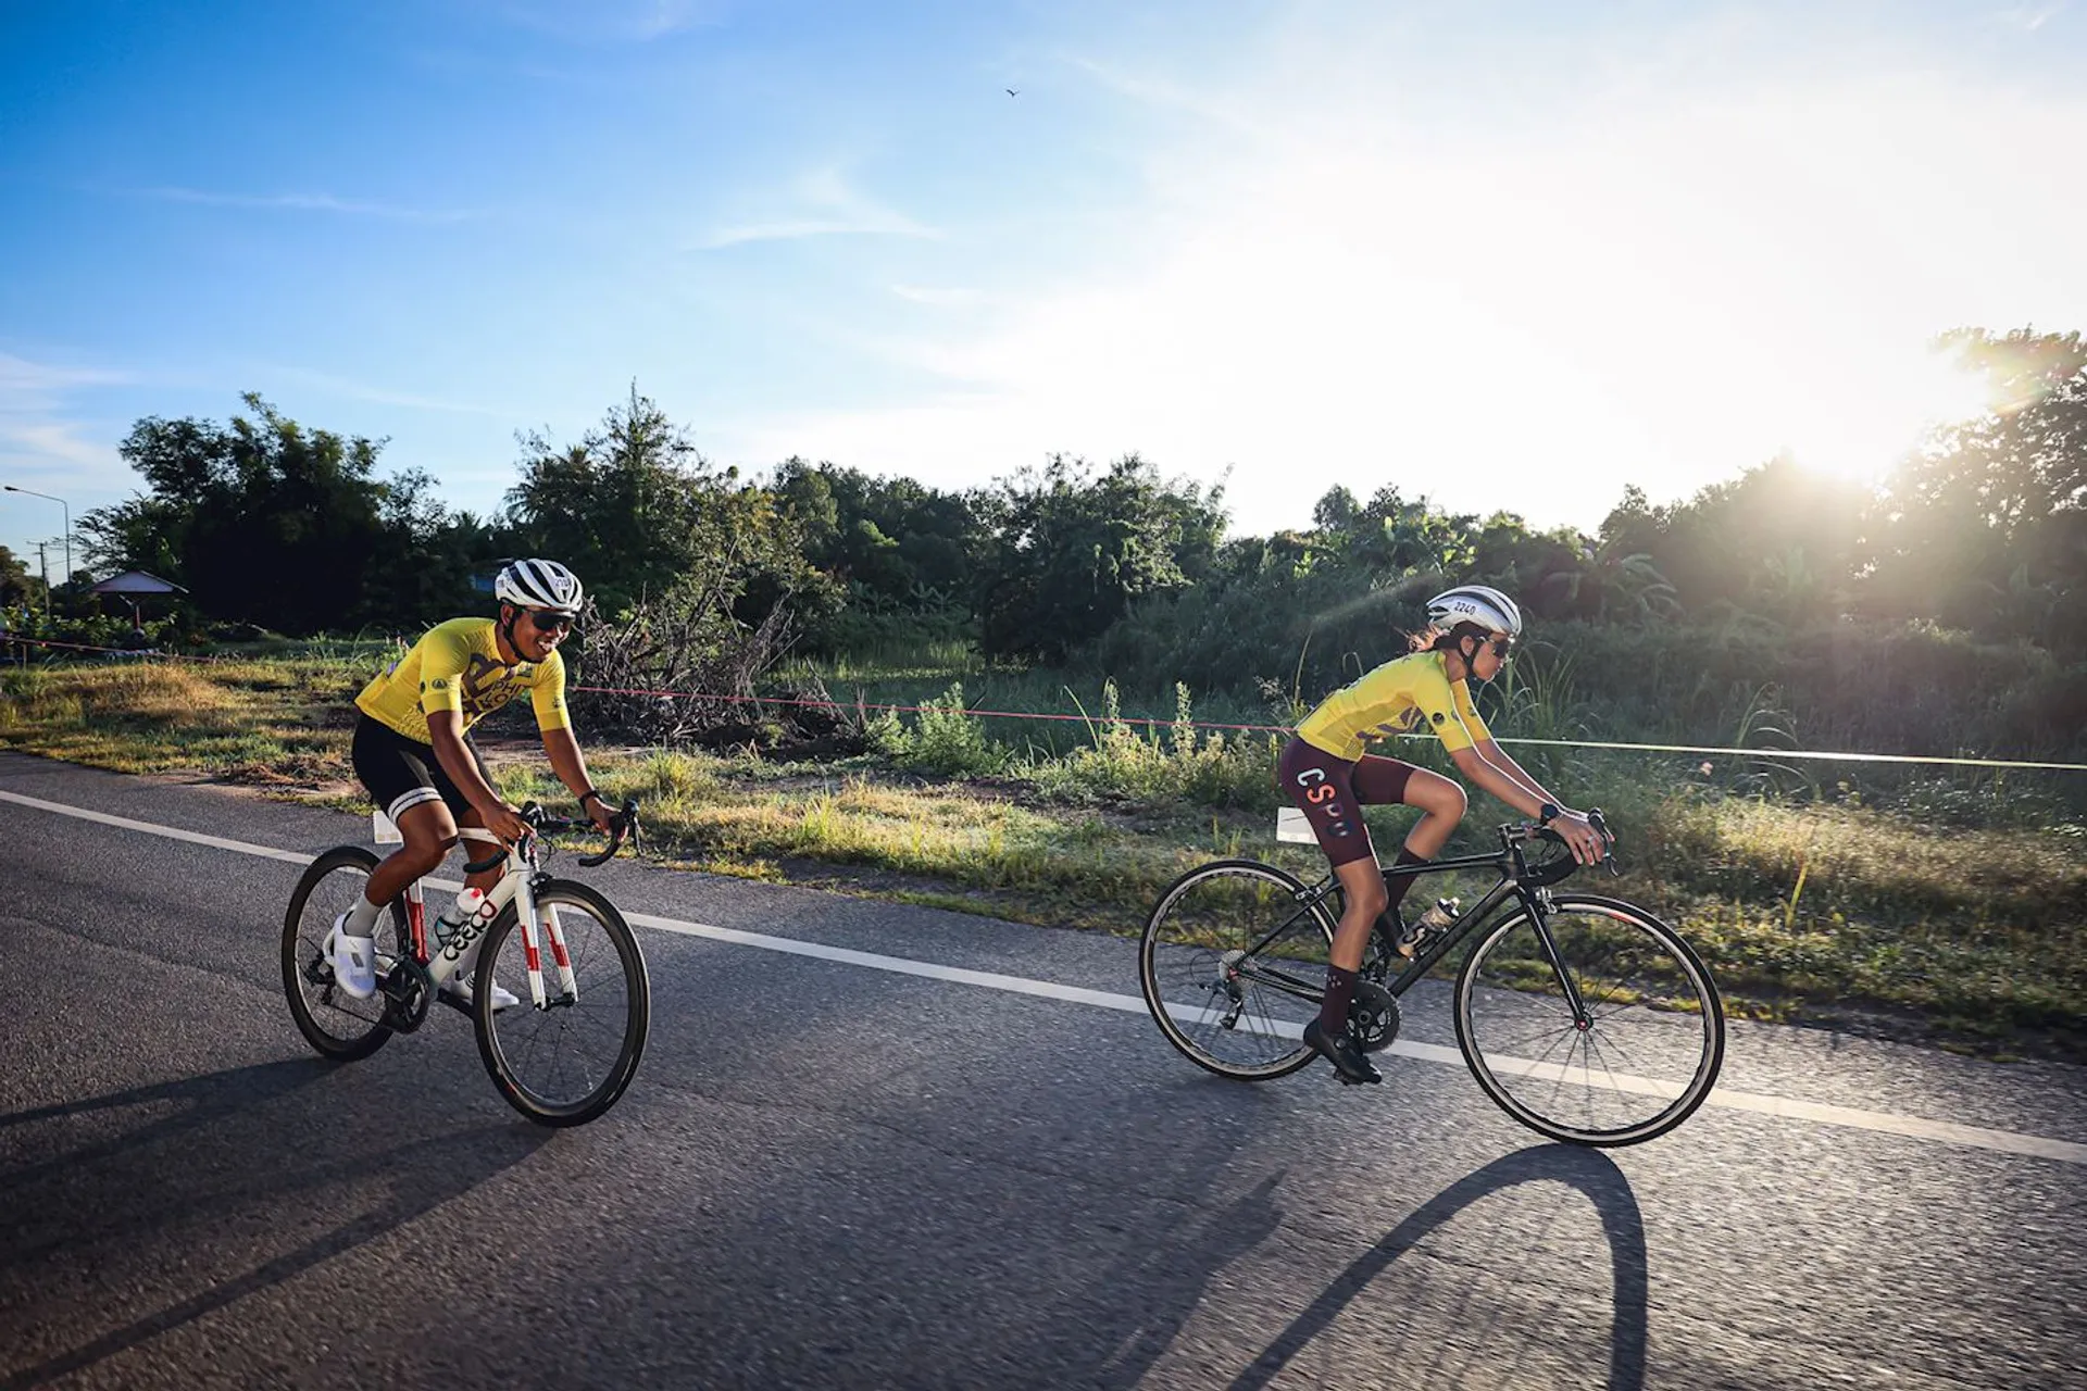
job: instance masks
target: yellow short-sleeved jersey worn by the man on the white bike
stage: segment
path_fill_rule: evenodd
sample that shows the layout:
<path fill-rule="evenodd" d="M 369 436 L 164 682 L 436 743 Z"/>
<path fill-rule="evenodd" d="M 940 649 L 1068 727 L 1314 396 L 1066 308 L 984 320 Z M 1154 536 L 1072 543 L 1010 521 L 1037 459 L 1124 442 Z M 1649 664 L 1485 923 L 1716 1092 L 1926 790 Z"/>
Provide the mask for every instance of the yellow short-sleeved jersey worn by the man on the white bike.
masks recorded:
<path fill-rule="evenodd" d="M 434 742 L 428 715 L 455 711 L 463 734 L 520 692 L 528 690 L 536 705 L 538 730 L 563 730 L 566 659 L 551 653 L 549 661 L 505 665 L 493 638 L 490 617 L 453 617 L 436 624 L 405 657 L 378 672 L 355 707 L 378 724 L 424 745 Z"/>

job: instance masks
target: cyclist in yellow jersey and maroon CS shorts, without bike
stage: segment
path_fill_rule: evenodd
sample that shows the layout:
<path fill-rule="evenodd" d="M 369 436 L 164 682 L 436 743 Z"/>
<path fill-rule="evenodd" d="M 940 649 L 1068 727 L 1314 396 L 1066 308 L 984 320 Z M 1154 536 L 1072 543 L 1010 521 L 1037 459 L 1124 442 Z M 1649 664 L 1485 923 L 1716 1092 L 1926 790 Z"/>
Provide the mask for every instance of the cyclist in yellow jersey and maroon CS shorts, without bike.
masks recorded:
<path fill-rule="evenodd" d="M 1580 811 L 1561 809 L 1501 749 L 1471 707 L 1471 678 L 1490 682 L 1498 676 L 1519 636 L 1521 609 L 1501 590 L 1465 584 L 1436 594 L 1428 601 L 1428 630 L 1413 638 L 1415 651 L 1321 701 L 1277 759 L 1277 780 L 1304 811 L 1344 897 L 1327 955 L 1325 1003 L 1319 1018 L 1304 1026 L 1304 1041 L 1352 1082 L 1382 1080 L 1348 1032 L 1348 1005 L 1369 932 L 1382 916 L 1390 916 L 1392 938 L 1411 955 L 1415 943 L 1398 903 L 1413 874 L 1398 870 L 1434 859 L 1467 805 L 1459 784 L 1400 759 L 1365 753 L 1365 740 L 1415 726 L 1434 730 L 1457 772 L 1515 811 L 1551 826 L 1580 863 L 1601 861 L 1607 849 L 1605 834 Z M 1390 884 L 1363 826 L 1363 807 L 1386 803 L 1421 811 L 1392 863 Z"/>

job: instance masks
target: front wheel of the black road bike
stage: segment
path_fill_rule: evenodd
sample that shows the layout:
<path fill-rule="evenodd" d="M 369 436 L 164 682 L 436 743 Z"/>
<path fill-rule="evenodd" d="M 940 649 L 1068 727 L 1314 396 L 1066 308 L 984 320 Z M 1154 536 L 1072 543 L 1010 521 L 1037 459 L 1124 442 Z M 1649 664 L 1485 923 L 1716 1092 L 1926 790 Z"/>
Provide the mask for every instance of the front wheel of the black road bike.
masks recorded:
<path fill-rule="evenodd" d="M 1636 1145 L 1709 1097 L 1724 1005 L 1668 924 L 1617 899 L 1555 895 L 1542 926 L 1519 911 L 1465 957 L 1457 1043 L 1486 1095 L 1532 1130 Z"/>

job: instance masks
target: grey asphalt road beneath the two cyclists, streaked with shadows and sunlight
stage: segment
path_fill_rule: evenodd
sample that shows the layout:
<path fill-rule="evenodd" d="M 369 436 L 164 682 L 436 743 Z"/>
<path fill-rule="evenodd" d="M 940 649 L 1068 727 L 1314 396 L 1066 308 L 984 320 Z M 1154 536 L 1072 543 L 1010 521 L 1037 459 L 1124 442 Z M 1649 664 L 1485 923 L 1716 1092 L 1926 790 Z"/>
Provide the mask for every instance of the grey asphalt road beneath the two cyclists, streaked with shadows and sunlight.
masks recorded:
<path fill-rule="evenodd" d="M 1734 1026 L 1718 1105 L 1597 1153 L 1050 993 L 1135 997 L 1127 941 L 618 861 L 572 872 L 872 957 L 641 928 L 643 1068 L 547 1132 L 457 1014 L 309 1053 L 296 863 L 8 795 L 367 834 L 0 755 L 0 1389 L 2087 1387 L 2079 1068 Z"/>

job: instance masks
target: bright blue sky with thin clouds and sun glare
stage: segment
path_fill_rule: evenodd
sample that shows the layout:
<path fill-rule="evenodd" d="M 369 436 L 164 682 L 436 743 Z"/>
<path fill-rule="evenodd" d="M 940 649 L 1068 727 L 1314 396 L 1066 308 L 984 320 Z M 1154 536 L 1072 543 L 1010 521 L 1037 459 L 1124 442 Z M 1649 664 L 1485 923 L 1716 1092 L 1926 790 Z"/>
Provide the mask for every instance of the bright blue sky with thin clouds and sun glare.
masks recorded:
<path fill-rule="evenodd" d="M 0 482 L 257 390 L 484 513 L 634 380 L 743 469 L 1592 528 L 2087 330 L 2083 148 L 2062 0 L 0 4 Z"/>

